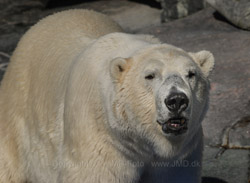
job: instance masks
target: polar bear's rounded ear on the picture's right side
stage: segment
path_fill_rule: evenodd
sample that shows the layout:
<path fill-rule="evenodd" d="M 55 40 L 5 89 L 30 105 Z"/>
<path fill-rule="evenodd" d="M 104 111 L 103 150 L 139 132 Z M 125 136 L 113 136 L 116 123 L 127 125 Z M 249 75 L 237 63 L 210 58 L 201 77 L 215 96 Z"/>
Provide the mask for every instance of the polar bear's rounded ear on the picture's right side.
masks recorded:
<path fill-rule="evenodd" d="M 211 52 L 203 50 L 197 53 L 189 53 L 194 61 L 201 68 L 202 72 L 206 77 L 209 76 L 210 72 L 214 68 L 214 56 Z"/>

